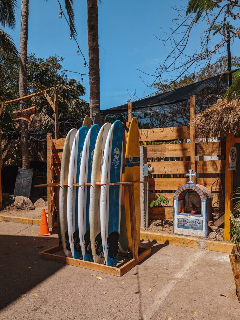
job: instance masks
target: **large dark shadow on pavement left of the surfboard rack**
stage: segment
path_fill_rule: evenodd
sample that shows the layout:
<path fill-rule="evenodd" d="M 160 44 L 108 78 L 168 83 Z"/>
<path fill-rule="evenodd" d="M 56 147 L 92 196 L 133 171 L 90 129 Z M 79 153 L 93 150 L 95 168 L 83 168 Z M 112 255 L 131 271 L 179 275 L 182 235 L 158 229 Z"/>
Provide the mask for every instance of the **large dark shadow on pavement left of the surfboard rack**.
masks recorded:
<path fill-rule="evenodd" d="M 0 235 L 0 308 L 63 267 L 39 258 L 40 251 L 57 244 L 52 237 Z"/>

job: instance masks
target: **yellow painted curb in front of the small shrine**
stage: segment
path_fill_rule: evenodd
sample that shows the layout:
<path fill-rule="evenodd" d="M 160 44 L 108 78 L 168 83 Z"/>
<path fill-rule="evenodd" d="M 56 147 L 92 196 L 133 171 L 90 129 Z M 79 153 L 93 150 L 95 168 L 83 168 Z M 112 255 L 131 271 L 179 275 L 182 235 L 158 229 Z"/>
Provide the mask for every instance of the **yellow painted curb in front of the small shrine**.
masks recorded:
<path fill-rule="evenodd" d="M 188 236 L 169 235 L 146 231 L 141 231 L 141 239 L 227 253 L 229 253 L 232 248 L 231 242 L 212 241 Z"/>

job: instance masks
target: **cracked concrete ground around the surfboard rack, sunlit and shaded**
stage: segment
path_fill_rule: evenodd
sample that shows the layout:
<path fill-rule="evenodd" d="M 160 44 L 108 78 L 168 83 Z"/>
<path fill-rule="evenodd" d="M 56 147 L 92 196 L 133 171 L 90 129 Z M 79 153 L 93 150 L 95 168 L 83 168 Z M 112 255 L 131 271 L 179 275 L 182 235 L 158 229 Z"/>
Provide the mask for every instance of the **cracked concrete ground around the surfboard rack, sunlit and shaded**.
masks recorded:
<path fill-rule="evenodd" d="M 152 255 L 115 277 L 39 258 L 58 238 L 38 231 L 0 222 L 1 319 L 239 319 L 226 253 L 145 242 Z"/>

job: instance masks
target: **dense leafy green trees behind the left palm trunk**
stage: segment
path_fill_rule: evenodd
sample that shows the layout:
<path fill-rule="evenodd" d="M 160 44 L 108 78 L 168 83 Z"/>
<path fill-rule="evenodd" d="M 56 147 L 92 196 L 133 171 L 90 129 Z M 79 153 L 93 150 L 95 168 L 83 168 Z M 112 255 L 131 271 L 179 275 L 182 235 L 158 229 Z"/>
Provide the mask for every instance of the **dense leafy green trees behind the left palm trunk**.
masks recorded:
<path fill-rule="evenodd" d="M 63 58 L 50 56 L 46 60 L 36 58 L 33 53 L 28 57 L 27 88 L 28 94 L 46 88 L 56 87 L 58 90 L 59 121 L 66 118 L 82 118 L 89 114 L 86 101 L 81 97 L 85 94 L 84 86 L 76 79 L 65 79 L 62 65 Z M 0 56 L 0 100 L 12 100 L 19 97 L 19 57 L 12 55 Z M 52 101 L 54 92 L 48 93 Z M 36 114 L 40 115 L 42 124 L 49 124 L 54 120 L 54 112 L 43 96 L 35 96 L 27 100 L 28 108 L 35 106 Z M 18 110 L 19 103 L 6 104 L 1 116 L 3 130 L 16 130 L 18 121 L 13 121 L 12 110 Z"/>

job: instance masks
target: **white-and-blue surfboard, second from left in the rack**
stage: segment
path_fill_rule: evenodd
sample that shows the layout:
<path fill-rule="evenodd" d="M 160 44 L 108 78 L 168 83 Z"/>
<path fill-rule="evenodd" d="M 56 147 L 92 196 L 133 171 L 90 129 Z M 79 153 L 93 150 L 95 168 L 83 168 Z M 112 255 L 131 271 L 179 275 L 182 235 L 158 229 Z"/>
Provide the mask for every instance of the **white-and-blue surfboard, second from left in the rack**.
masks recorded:
<path fill-rule="evenodd" d="M 79 172 L 84 140 L 88 132 L 87 126 L 82 126 L 76 133 L 71 150 L 69 161 L 69 175 L 68 175 L 68 233 L 69 233 L 69 246 L 73 258 L 83 259 L 81 247 L 79 247 L 79 232 L 78 232 L 78 189 L 73 184 L 79 182 Z"/>

